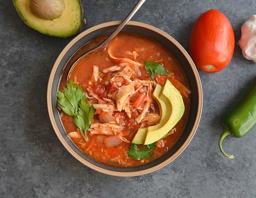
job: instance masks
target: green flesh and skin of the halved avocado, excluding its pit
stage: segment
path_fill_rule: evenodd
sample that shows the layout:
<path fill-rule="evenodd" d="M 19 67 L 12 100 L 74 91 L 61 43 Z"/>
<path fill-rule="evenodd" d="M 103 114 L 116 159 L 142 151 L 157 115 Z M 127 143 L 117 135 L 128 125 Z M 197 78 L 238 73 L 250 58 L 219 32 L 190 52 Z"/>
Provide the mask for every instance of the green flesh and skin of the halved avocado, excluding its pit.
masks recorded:
<path fill-rule="evenodd" d="M 67 38 L 77 34 L 83 25 L 83 7 L 80 0 L 64 0 L 62 15 L 53 20 L 44 20 L 35 16 L 29 8 L 30 0 L 13 0 L 13 4 L 22 20 L 31 28 L 43 34 Z"/>

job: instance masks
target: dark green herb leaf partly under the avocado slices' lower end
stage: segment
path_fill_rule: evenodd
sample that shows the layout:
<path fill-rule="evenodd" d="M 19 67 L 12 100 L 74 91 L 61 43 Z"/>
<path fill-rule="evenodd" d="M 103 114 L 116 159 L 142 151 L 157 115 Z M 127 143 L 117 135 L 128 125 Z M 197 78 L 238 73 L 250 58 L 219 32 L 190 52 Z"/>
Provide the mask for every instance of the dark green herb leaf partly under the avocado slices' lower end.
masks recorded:
<path fill-rule="evenodd" d="M 142 159 L 149 159 L 153 153 L 151 153 L 156 146 L 156 142 L 145 145 L 144 148 L 139 149 L 137 145 L 132 144 L 128 151 L 128 157 L 132 160 L 142 160 Z"/>

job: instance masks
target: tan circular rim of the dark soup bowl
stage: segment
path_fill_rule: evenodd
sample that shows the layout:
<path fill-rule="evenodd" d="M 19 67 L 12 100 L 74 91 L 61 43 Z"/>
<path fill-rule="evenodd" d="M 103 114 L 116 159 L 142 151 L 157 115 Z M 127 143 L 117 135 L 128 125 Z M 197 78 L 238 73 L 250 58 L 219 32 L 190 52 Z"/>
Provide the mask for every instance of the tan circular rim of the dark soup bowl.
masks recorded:
<path fill-rule="evenodd" d="M 54 75 L 55 72 L 57 70 L 58 65 L 60 64 L 61 59 L 63 58 L 64 54 L 71 48 L 71 46 L 73 46 L 75 44 L 75 42 L 77 42 L 79 39 L 81 39 L 82 37 L 84 37 L 85 35 L 103 28 L 103 27 L 107 27 L 107 26 L 113 26 L 113 25 L 119 25 L 121 21 L 111 21 L 111 22 L 106 22 L 106 23 L 102 23 L 96 26 L 93 26 L 87 30 L 85 30 L 84 32 L 80 33 L 79 35 L 77 35 L 73 40 L 70 41 L 70 43 L 68 43 L 68 45 L 62 50 L 62 52 L 60 53 L 60 55 L 58 56 L 58 58 L 56 59 L 50 77 L 49 77 L 49 82 L 48 82 L 48 86 L 47 86 L 47 108 L 48 108 L 48 112 L 49 112 L 49 116 L 50 116 L 50 120 L 51 120 L 51 124 L 53 126 L 53 129 L 57 135 L 57 137 L 60 139 L 61 143 L 63 144 L 63 146 L 68 150 L 68 152 L 70 152 L 72 154 L 72 156 L 74 156 L 78 161 L 80 161 L 81 163 L 83 163 L 84 165 L 88 166 L 89 168 L 98 171 L 100 173 L 104 173 L 104 174 L 108 174 L 108 175 L 113 175 L 113 176 L 138 176 L 138 175 L 143 175 L 143 174 L 148 174 L 151 173 L 153 171 L 156 171 L 164 166 L 166 166 L 167 164 L 169 164 L 170 162 L 172 162 L 174 159 L 176 159 L 183 151 L 184 149 L 189 145 L 190 141 L 192 140 L 196 129 L 198 128 L 199 122 L 200 122 L 200 118 L 201 118 L 201 114 L 202 114 L 202 106 L 203 106 L 203 92 L 202 92 L 202 85 L 201 85 L 201 81 L 200 81 L 200 77 L 198 74 L 198 71 L 192 61 L 192 59 L 190 58 L 188 52 L 186 52 L 186 50 L 179 44 L 179 42 L 177 42 L 173 37 L 171 37 L 170 35 L 168 35 L 167 33 L 163 32 L 162 30 L 145 24 L 145 23 L 141 23 L 141 22 L 135 22 L 135 21 L 129 21 L 127 25 L 132 25 L 132 26 L 139 26 L 139 27 L 143 27 L 146 29 L 150 29 L 154 32 L 157 32 L 158 34 L 166 37 L 167 39 L 171 40 L 180 50 L 181 52 L 184 54 L 184 56 L 186 57 L 186 59 L 188 60 L 189 64 L 192 66 L 192 70 L 195 76 L 195 80 L 197 82 L 197 88 L 198 88 L 198 111 L 196 114 L 196 119 L 194 122 L 194 125 L 192 127 L 192 130 L 189 134 L 189 136 L 187 137 L 187 139 L 184 141 L 184 143 L 182 144 L 182 146 L 171 156 L 169 157 L 167 160 L 152 166 L 148 169 L 144 169 L 144 170 L 139 170 L 139 171 L 132 171 L 132 172 L 120 172 L 120 171 L 113 171 L 113 170 L 107 170 L 104 168 L 100 168 L 88 161 L 86 161 L 85 159 L 83 159 L 81 156 L 79 156 L 65 141 L 65 139 L 62 137 L 57 124 L 54 120 L 54 114 L 53 114 L 53 109 L 52 109 L 52 84 L 53 84 L 53 79 L 54 79 Z"/>

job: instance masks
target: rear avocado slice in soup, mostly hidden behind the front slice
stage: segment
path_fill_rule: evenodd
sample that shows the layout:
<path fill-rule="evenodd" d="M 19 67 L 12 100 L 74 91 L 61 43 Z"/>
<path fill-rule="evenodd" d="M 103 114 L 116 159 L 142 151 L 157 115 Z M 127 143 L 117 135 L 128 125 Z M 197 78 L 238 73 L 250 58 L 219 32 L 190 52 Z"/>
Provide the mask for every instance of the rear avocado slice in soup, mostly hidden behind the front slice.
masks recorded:
<path fill-rule="evenodd" d="M 160 116 L 161 116 L 160 122 L 163 120 L 164 116 L 166 115 L 166 104 L 161 99 L 159 99 L 161 89 L 162 89 L 162 86 L 159 84 L 156 84 L 156 87 L 153 91 L 153 98 L 157 101 L 159 111 L 160 111 Z M 147 128 L 139 128 L 134 138 L 132 139 L 131 143 L 143 144 L 146 133 L 147 133 Z"/>

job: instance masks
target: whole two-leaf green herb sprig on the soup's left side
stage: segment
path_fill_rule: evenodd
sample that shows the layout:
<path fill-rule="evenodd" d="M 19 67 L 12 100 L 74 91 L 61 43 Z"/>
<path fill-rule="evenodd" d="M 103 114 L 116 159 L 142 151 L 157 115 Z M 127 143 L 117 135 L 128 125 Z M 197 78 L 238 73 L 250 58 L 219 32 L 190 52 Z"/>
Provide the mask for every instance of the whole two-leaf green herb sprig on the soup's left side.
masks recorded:
<path fill-rule="evenodd" d="M 63 92 L 58 91 L 57 98 L 60 109 L 64 113 L 74 116 L 74 123 L 87 141 L 86 132 L 90 127 L 95 110 L 93 105 L 90 106 L 86 101 L 82 86 L 77 86 L 71 79 L 67 83 L 67 88 L 63 87 Z"/>

